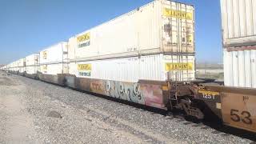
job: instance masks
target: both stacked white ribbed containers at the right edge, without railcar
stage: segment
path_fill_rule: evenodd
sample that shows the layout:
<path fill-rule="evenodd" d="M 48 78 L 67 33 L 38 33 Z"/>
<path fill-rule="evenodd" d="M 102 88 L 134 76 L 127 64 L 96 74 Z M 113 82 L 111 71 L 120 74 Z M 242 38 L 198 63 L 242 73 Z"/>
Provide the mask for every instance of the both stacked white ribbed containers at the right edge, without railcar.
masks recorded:
<path fill-rule="evenodd" d="M 222 0 L 226 86 L 256 88 L 256 1 Z"/>

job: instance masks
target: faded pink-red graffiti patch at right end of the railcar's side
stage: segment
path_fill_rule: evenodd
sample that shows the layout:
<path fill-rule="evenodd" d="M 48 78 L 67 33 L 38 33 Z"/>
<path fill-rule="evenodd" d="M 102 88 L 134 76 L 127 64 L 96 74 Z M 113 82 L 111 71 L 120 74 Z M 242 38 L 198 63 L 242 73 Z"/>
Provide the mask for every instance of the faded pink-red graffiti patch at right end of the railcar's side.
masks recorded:
<path fill-rule="evenodd" d="M 165 107 L 163 94 L 162 94 L 162 86 L 152 85 L 152 84 L 142 84 L 141 89 L 145 98 L 146 106 L 154 106 L 158 108 Z"/>

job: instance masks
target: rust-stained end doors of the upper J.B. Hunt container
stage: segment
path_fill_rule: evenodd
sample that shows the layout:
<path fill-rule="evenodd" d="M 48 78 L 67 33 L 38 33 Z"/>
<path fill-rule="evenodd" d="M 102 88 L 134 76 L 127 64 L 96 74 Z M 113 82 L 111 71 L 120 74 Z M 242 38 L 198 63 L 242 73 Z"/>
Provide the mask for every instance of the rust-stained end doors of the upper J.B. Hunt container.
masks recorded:
<path fill-rule="evenodd" d="M 171 53 L 194 53 L 194 7 L 166 1 L 162 15 L 163 49 Z"/>

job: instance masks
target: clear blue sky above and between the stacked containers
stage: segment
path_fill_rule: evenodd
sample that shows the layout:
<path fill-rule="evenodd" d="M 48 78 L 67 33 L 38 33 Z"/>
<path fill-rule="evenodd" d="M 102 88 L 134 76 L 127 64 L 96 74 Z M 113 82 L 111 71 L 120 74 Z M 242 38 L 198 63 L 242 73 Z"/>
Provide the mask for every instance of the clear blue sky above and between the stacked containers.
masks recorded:
<path fill-rule="evenodd" d="M 0 64 L 24 58 L 152 0 L 0 0 Z M 196 10 L 198 62 L 222 62 L 219 0 L 177 0 Z"/>

